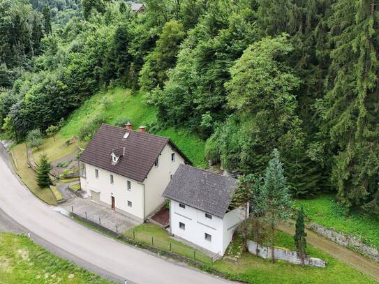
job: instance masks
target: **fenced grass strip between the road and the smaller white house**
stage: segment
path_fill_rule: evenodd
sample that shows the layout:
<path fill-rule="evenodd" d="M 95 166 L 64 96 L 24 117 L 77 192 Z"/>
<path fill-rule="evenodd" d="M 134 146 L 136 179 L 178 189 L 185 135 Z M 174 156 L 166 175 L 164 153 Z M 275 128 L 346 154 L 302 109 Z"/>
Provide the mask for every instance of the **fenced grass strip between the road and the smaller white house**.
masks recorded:
<path fill-rule="evenodd" d="M 133 239 L 133 230 L 135 240 L 141 241 L 144 244 L 153 244 L 158 248 L 162 248 L 165 251 L 170 251 L 170 243 L 171 243 L 171 251 L 173 253 L 177 253 L 178 255 L 183 255 L 185 257 L 193 259 L 194 251 L 195 251 L 195 259 L 200 262 L 204 262 L 205 264 L 211 264 L 211 257 L 202 253 L 191 246 L 181 243 L 180 241 L 176 241 L 170 238 L 168 231 L 158 227 L 154 224 L 142 224 L 134 229 L 126 232 L 126 236 Z M 153 239 L 151 239 L 151 237 Z"/>

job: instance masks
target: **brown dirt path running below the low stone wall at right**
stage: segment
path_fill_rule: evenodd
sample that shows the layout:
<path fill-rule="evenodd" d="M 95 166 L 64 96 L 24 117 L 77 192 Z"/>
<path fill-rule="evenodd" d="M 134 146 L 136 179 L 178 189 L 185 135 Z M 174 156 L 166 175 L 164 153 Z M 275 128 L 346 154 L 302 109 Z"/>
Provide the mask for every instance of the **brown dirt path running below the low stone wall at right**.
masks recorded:
<path fill-rule="evenodd" d="M 281 230 L 287 234 L 295 234 L 295 225 L 293 224 L 281 224 L 278 225 L 278 230 Z M 362 271 L 364 274 L 370 275 L 376 281 L 379 281 L 379 263 L 374 262 L 373 260 L 369 260 L 354 251 L 345 248 L 344 246 L 340 246 L 339 244 L 334 243 L 334 241 L 329 241 L 324 237 L 312 232 L 310 230 L 306 230 L 306 241 L 308 244 L 319 248 L 321 251 L 325 251 L 329 255 L 332 255 L 338 260 L 349 264 L 355 269 Z"/>

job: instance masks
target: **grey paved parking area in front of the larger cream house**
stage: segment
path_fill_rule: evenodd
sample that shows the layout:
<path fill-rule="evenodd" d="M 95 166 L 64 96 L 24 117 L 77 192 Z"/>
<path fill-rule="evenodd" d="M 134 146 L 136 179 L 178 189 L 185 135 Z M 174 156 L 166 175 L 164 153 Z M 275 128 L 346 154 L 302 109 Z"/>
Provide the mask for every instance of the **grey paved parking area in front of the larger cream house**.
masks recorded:
<path fill-rule="evenodd" d="M 95 223 L 100 223 L 103 227 L 119 233 L 126 232 L 136 225 L 140 225 L 138 221 L 128 218 L 119 212 L 110 208 L 101 206 L 89 199 L 80 197 L 71 198 L 61 204 L 60 207 L 68 212 L 74 212 L 84 218 Z"/>

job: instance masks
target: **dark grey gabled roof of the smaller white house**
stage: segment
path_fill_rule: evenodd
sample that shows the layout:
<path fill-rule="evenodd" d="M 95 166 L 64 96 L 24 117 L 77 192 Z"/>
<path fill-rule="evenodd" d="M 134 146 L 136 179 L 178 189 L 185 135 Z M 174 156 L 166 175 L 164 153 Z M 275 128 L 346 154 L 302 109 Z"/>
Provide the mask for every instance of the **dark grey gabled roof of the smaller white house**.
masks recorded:
<path fill-rule="evenodd" d="M 197 167 L 179 165 L 162 196 L 223 218 L 236 181 Z"/>

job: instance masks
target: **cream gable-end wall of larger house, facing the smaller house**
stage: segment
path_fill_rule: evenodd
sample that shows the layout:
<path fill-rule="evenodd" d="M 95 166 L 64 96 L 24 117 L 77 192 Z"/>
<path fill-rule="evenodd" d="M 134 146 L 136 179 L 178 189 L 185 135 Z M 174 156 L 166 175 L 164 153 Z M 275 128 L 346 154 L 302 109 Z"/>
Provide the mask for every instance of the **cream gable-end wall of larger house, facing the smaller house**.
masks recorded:
<path fill-rule="evenodd" d="M 175 153 L 174 162 L 171 161 L 172 153 Z M 180 164 L 184 164 L 184 158 L 166 144 L 159 156 L 158 167 L 153 166 L 144 180 L 146 217 L 165 202 L 162 193 L 170 182 L 170 175 L 176 172 Z"/>

